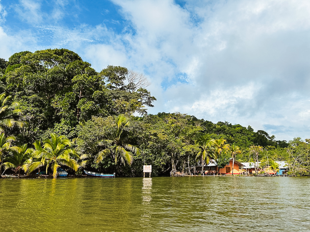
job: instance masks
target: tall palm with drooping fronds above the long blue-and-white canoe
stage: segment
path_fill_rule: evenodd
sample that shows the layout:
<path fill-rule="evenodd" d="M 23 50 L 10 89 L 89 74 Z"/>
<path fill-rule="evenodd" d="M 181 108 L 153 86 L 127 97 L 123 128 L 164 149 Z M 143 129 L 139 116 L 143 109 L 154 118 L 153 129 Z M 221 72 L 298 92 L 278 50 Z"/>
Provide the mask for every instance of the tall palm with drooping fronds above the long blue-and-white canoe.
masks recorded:
<path fill-rule="evenodd" d="M 133 161 L 132 153 L 138 155 L 140 149 L 131 144 L 123 142 L 122 133 L 125 127 L 129 126 L 129 118 L 124 115 L 114 117 L 115 128 L 111 133 L 110 139 L 98 141 L 98 145 L 104 146 L 105 148 L 98 153 L 96 162 L 100 163 L 105 157 L 112 156 L 116 167 L 118 162 L 121 161 L 124 165 L 127 163 L 131 165 Z"/>

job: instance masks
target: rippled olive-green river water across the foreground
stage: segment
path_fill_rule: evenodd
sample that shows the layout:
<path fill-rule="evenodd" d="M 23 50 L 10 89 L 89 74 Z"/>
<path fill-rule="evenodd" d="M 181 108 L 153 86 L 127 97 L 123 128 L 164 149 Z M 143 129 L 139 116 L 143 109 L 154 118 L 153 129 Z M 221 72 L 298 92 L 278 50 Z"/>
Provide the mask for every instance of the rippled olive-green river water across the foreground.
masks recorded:
<path fill-rule="evenodd" d="M 310 178 L 0 179 L 0 231 L 310 231 Z"/>

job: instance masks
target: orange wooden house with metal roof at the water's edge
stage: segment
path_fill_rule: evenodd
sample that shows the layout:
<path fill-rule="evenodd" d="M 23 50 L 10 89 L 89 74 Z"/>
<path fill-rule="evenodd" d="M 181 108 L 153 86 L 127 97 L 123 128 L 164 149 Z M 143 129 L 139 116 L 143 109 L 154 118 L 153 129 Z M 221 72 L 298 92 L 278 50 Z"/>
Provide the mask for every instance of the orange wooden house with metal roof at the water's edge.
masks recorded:
<path fill-rule="evenodd" d="M 232 158 L 229 160 L 227 165 L 224 168 L 218 168 L 217 164 L 214 160 L 210 161 L 208 165 L 204 167 L 204 174 L 206 175 L 214 175 L 217 173 L 219 175 L 238 175 L 241 173 L 242 164 L 238 161 L 234 161 L 233 167 L 232 167 Z"/>

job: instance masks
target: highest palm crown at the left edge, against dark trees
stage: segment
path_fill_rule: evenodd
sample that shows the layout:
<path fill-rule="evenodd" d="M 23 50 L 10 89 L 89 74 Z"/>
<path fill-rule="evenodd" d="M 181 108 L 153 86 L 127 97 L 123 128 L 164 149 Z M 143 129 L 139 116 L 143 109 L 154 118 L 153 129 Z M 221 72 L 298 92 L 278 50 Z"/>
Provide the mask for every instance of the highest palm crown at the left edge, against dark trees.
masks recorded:
<path fill-rule="evenodd" d="M 11 101 L 12 96 L 6 96 L 3 92 L 0 94 L 0 132 L 4 132 L 7 127 L 20 127 L 25 125 L 25 122 L 20 121 L 18 117 L 21 115 L 21 110 L 16 109 L 19 101 Z"/>

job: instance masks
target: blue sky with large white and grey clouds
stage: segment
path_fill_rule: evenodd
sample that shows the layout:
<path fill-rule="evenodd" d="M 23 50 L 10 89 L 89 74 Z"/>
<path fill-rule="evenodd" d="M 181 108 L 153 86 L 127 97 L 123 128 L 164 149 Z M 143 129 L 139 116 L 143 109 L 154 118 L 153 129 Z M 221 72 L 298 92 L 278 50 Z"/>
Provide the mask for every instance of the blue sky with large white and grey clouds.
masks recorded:
<path fill-rule="evenodd" d="M 308 0 L 0 0 L 0 58 L 48 48 L 143 73 L 150 114 L 310 138 Z"/>

